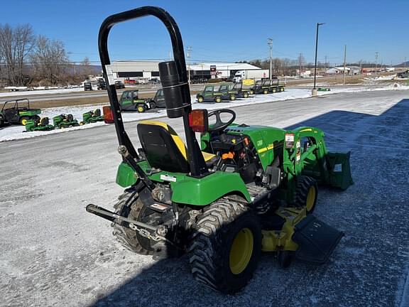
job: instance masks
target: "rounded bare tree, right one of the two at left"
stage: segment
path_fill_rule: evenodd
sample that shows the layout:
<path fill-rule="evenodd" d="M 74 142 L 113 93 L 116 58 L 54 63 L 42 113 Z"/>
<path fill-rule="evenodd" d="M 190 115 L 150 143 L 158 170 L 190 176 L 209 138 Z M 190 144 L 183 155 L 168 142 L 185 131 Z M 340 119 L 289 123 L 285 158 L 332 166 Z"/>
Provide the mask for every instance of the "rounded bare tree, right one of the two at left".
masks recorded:
<path fill-rule="evenodd" d="M 53 41 L 44 36 L 38 36 L 36 48 L 31 54 L 36 77 L 57 85 L 64 80 L 68 57 L 62 41 Z"/>

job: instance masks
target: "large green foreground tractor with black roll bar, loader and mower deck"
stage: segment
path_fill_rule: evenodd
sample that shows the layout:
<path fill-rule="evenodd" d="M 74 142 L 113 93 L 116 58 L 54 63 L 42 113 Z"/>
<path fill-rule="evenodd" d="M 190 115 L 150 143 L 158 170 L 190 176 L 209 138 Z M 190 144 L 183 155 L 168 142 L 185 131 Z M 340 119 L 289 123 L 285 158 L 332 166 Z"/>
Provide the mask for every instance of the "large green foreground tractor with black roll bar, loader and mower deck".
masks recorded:
<path fill-rule="evenodd" d="M 323 132 L 314 127 L 249 126 L 235 124 L 230 109 L 192 110 L 178 25 L 157 7 L 102 23 L 105 77 L 112 26 L 149 15 L 165 24 L 173 43 L 175 60 L 160 63 L 159 73 L 168 117 L 182 117 L 186 143 L 165 122 L 146 120 L 137 125 L 142 148 L 136 151 L 110 85 L 122 156 L 116 183 L 125 190 L 114 212 L 93 204 L 87 212 L 112 222 L 119 242 L 137 254 L 162 259 L 187 253 L 195 279 L 222 293 L 246 286 L 262 251 L 274 252 L 283 267 L 293 259 L 326 262 L 343 234 L 312 212 L 318 184 L 346 189 L 352 183 L 349 153 L 328 152 Z M 202 134 L 202 149 L 195 132 Z"/>

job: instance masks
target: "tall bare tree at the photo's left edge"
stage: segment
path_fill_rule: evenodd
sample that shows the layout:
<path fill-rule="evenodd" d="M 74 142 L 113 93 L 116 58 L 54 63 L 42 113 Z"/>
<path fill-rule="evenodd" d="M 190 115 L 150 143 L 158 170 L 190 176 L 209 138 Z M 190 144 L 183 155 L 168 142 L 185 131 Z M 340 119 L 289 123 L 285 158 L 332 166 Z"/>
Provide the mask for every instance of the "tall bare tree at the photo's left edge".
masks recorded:
<path fill-rule="evenodd" d="M 9 85 L 23 85 L 24 63 L 33 49 L 34 35 L 31 25 L 24 24 L 11 28 L 9 24 L 0 25 L 0 60 L 3 77 Z"/>

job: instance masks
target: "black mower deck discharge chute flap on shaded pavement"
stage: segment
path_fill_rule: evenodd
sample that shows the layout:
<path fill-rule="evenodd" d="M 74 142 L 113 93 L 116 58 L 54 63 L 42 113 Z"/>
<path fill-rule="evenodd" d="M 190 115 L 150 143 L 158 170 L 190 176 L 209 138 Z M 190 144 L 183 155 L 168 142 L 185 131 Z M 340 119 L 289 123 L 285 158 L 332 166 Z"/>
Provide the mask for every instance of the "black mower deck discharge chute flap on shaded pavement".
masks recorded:
<path fill-rule="evenodd" d="M 336 230 L 313 215 L 307 215 L 297 225 L 293 241 L 298 244 L 295 258 L 303 262 L 323 264 L 337 247 L 343 232 Z"/>

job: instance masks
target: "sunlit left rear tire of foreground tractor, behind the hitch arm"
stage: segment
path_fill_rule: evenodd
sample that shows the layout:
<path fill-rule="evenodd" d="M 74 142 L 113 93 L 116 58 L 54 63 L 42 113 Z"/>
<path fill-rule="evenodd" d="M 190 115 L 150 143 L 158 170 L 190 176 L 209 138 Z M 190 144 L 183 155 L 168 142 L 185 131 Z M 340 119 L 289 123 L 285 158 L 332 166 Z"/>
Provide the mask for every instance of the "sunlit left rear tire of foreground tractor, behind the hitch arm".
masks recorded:
<path fill-rule="evenodd" d="M 136 194 L 137 195 L 137 194 Z M 124 217 L 128 217 L 138 222 L 147 222 L 152 210 L 146 208 L 143 202 L 132 192 L 125 192 L 118 198 L 118 203 L 114 205 L 115 213 Z M 136 254 L 151 255 L 154 249 L 151 247 L 151 240 L 142 237 L 134 230 L 122 227 L 116 223 L 112 223 L 114 228 L 112 235 L 116 237 L 119 243 L 126 249 L 136 252 Z"/>

